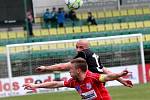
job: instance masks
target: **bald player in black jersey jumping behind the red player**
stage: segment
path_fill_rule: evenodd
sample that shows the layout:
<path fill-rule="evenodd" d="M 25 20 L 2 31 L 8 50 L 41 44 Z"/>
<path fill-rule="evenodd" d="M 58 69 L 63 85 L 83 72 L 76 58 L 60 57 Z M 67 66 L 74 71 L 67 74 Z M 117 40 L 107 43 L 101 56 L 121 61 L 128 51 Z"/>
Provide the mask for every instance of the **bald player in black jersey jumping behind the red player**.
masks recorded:
<path fill-rule="evenodd" d="M 105 68 L 101 62 L 100 57 L 93 53 L 89 48 L 89 42 L 87 40 L 79 40 L 76 43 L 76 51 L 77 55 L 74 58 L 84 58 L 88 64 L 88 69 L 93 73 L 105 73 L 109 74 L 112 73 L 107 68 Z M 40 66 L 36 68 L 37 72 L 43 72 L 43 71 L 62 71 L 62 70 L 69 70 L 70 68 L 70 62 L 67 63 L 60 63 L 55 64 L 51 66 Z M 130 80 L 124 80 L 122 78 L 117 79 L 120 83 L 122 83 L 124 86 L 132 87 L 132 82 Z"/>

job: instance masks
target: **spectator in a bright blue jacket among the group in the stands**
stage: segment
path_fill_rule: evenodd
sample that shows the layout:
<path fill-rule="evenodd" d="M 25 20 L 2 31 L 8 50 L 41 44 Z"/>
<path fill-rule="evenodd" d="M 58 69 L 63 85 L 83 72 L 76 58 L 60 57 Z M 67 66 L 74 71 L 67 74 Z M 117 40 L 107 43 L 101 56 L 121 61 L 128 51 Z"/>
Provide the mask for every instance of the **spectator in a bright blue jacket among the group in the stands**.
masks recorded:
<path fill-rule="evenodd" d="M 57 23 L 59 27 L 64 27 L 65 12 L 63 8 L 58 8 Z"/>

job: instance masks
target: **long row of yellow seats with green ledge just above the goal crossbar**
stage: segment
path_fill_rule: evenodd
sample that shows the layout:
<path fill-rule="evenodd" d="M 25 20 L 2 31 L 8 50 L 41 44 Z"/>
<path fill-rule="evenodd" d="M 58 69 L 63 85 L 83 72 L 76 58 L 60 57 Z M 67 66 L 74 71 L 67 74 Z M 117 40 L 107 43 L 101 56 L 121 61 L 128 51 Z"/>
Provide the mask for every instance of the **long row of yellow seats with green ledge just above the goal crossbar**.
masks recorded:
<path fill-rule="evenodd" d="M 149 34 L 150 21 L 138 21 L 138 22 L 127 22 L 127 23 L 113 23 L 113 24 L 100 24 L 97 26 L 76 26 L 76 27 L 65 27 L 65 28 L 51 28 L 51 29 L 37 29 L 34 30 L 34 36 L 29 40 L 36 42 L 43 41 L 44 38 L 48 40 L 59 40 L 59 38 L 73 39 L 77 35 L 88 37 L 95 36 L 113 36 L 123 35 L 131 33 L 143 33 Z M 76 34 L 78 33 L 78 34 Z M 79 34 L 80 33 L 80 34 Z M 90 35 L 91 34 L 91 35 Z M 51 38 L 53 37 L 53 38 Z M 56 38 L 55 38 L 56 37 Z M 0 44 L 12 44 L 12 43 L 23 43 L 27 38 L 27 34 L 24 31 L 20 32 L 0 32 Z M 43 39 L 42 39 L 43 38 Z"/>

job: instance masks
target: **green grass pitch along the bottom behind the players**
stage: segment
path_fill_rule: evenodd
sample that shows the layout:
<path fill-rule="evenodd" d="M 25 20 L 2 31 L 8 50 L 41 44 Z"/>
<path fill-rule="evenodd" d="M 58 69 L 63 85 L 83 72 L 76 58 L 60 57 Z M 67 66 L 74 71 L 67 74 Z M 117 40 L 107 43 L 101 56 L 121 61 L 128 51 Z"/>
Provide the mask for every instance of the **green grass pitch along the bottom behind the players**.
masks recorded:
<path fill-rule="evenodd" d="M 150 100 L 150 83 L 134 85 L 133 88 L 108 87 L 108 90 L 112 100 Z M 0 98 L 0 100 L 81 100 L 81 98 L 75 91 L 68 91 Z"/>

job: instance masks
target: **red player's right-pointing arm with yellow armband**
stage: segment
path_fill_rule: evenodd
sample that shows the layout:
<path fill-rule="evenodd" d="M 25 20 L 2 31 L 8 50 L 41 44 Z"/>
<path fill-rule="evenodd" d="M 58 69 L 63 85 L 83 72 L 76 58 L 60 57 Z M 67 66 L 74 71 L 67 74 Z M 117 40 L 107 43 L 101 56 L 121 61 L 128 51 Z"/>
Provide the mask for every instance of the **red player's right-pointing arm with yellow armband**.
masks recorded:
<path fill-rule="evenodd" d="M 119 77 L 122 77 L 122 76 L 126 76 L 128 74 L 128 71 L 127 70 L 123 70 L 122 72 L 120 73 L 109 73 L 109 74 L 106 74 L 106 75 L 101 75 L 100 76 L 100 80 L 102 82 L 106 82 L 106 81 L 112 81 L 112 80 L 116 80 L 118 79 Z"/>

